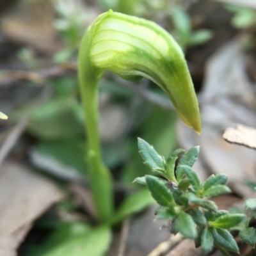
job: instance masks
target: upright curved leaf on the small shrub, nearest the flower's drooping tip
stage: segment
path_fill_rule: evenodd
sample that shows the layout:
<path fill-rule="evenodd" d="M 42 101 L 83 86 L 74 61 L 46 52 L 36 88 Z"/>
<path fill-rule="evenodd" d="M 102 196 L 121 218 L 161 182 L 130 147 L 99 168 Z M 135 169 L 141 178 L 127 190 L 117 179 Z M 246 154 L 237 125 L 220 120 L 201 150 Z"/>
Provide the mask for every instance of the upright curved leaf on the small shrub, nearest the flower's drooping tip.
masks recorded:
<path fill-rule="evenodd" d="M 180 161 L 177 166 L 176 175 L 177 180 L 180 182 L 182 177 L 185 175 L 184 170 L 180 168 L 181 165 L 188 165 L 189 167 L 192 167 L 195 161 L 198 158 L 199 154 L 199 146 L 190 148 L 184 155 L 180 158 Z"/>

